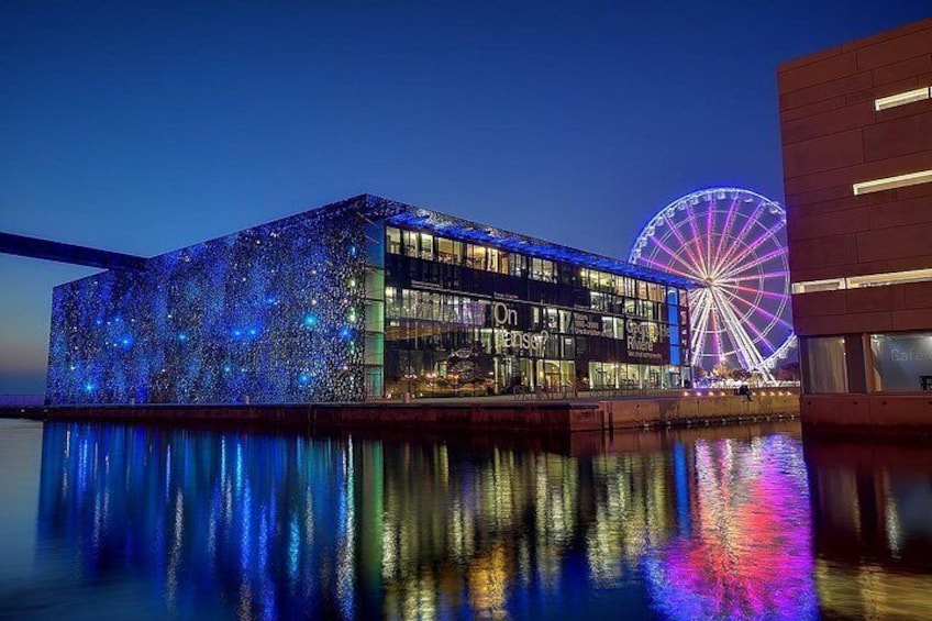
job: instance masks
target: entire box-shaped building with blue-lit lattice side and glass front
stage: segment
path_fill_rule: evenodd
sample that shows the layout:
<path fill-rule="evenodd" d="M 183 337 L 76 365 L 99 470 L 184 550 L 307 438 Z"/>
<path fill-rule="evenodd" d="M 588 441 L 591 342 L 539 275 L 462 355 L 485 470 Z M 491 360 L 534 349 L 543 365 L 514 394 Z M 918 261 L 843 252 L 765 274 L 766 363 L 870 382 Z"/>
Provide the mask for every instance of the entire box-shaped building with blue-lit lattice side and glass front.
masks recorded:
<path fill-rule="evenodd" d="M 51 403 L 675 388 L 677 276 L 362 195 L 53 295 Z"/>

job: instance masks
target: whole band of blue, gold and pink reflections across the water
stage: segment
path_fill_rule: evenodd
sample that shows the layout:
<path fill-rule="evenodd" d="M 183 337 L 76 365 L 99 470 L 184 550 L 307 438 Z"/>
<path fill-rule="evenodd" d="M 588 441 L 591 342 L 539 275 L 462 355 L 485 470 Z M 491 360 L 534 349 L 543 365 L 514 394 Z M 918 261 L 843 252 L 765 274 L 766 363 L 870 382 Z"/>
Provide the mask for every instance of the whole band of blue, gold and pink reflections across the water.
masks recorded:
<path fill-rule="evenodd" d="M 0 617 L 857 618 L 876 602 L 841 603 L 851 579 L 929 578 L 911 552 L 932 542 L 928 485 L 887 476 L 887 500 L 852 513 L 792 432 L 596 445 L 45 424 L 34 558 L 0 575 Z M 845 550 L 885 533 L 911 573 L 885 579 L 890 552 L 840 557 L 825 524 Z"/>

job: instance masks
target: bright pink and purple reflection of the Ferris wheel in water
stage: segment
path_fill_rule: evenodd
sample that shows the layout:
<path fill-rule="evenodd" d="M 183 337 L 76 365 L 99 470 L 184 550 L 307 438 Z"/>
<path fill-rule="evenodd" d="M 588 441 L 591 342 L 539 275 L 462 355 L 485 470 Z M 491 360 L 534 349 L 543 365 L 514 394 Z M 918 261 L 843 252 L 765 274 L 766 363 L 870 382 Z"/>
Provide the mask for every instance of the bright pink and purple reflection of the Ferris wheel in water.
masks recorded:
<path fill-rule="evenodd" d="M 673 619 L 814 619 L 806 466 L 781 435 L 699 442 L 695 526 L 646 566 Z"/>

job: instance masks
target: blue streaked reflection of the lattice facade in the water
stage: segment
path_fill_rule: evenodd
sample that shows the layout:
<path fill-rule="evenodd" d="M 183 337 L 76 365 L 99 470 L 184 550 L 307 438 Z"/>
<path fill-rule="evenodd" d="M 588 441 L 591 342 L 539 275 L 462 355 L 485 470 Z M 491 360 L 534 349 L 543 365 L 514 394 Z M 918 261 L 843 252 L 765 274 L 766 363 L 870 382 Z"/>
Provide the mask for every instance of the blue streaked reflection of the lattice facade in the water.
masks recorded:
<path fill-rule="evenodd" d="M 80 424 L 46 425 L 43 444 L 40 539 L 73 545 L 84 579 L 146 580 L 181 616 L 352 610 L 331 572 L 354 553 L 333 511 L 352 498 L 342 446 L 314 442 L 299 459 L 281 437 Z"/>

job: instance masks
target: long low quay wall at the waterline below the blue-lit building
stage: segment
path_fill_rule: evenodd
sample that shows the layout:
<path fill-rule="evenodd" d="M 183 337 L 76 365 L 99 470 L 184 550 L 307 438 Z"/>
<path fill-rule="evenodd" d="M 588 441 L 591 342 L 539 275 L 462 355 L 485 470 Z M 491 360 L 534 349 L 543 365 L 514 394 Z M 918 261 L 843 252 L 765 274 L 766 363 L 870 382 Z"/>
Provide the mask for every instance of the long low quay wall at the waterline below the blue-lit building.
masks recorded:
<path fill-rule="evenodd" d="M 59 406 L 3 417 L 320 429 L 418 429 L 573 433 L 796 417 L 799 396 L 644 397 L 603 401 L 373 402 L 215 406 Z"/>

